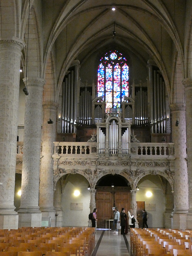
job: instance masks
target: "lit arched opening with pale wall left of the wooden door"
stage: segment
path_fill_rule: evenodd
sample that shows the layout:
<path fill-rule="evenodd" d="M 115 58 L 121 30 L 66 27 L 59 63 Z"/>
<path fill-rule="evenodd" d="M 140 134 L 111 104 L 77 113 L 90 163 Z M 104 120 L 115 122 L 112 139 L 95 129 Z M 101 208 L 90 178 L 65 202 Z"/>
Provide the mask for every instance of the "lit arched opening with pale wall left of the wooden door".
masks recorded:
<path fill-rule="evenodd" d="M 56 226 L 88 226 L 88 187 L 88 180 L 80 174 L 66 174 L 60 177 L 54 192 Z"/>

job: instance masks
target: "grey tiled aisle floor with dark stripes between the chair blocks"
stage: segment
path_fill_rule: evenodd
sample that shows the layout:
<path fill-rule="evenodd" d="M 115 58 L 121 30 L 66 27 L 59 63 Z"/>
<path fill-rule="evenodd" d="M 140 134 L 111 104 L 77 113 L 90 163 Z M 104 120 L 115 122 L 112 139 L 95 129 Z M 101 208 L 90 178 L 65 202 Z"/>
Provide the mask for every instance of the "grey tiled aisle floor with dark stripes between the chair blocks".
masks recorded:
<path fill-rule="evenodd" d="M 95 250 L 92 256 L 132 256 L 130 253 L 130 233 L 113 234 L 114 230 L 97 230 Z"/>

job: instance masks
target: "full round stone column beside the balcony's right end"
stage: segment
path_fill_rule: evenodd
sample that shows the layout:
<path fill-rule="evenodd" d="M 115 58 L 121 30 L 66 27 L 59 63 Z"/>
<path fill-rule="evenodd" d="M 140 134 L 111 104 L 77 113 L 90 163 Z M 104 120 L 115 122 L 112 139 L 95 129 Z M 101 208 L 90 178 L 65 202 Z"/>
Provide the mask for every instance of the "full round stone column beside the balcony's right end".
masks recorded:
<path fill-rule="evenodd" d="M 172 115 L 172 140 L 175 143 L 173 228 L 186 229 L 186 214 L 188 213 L 186 107 L 182 104 L 172 104 L 170 109 Z M 176 121 L 178 121 L 178 124 Z"/>

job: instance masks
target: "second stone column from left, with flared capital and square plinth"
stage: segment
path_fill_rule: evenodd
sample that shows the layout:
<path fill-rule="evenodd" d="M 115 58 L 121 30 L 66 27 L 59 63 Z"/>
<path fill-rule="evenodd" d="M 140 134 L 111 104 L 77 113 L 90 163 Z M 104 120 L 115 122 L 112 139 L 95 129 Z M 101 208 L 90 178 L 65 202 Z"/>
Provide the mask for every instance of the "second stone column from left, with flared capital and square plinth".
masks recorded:
<path fill-rule="evenodd" d="M 41 226 L 42 214 L 39 209 L 39 175 L 42 138 L 42 91 L 44 79 L 24 79 L 29 95 L 26 96 L 22 194 L 19 227 Z"/>

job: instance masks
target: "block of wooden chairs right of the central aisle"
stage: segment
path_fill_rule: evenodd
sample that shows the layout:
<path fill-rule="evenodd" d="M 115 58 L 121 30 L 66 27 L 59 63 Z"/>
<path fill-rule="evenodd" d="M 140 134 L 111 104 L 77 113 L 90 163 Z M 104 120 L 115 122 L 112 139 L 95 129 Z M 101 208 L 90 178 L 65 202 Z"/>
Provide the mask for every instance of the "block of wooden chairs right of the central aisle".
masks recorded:
<path fill-rule="evenodd" d="M 192 230 L 131 228 L 130 246 L 134 256 L 192 255 Z"/>

